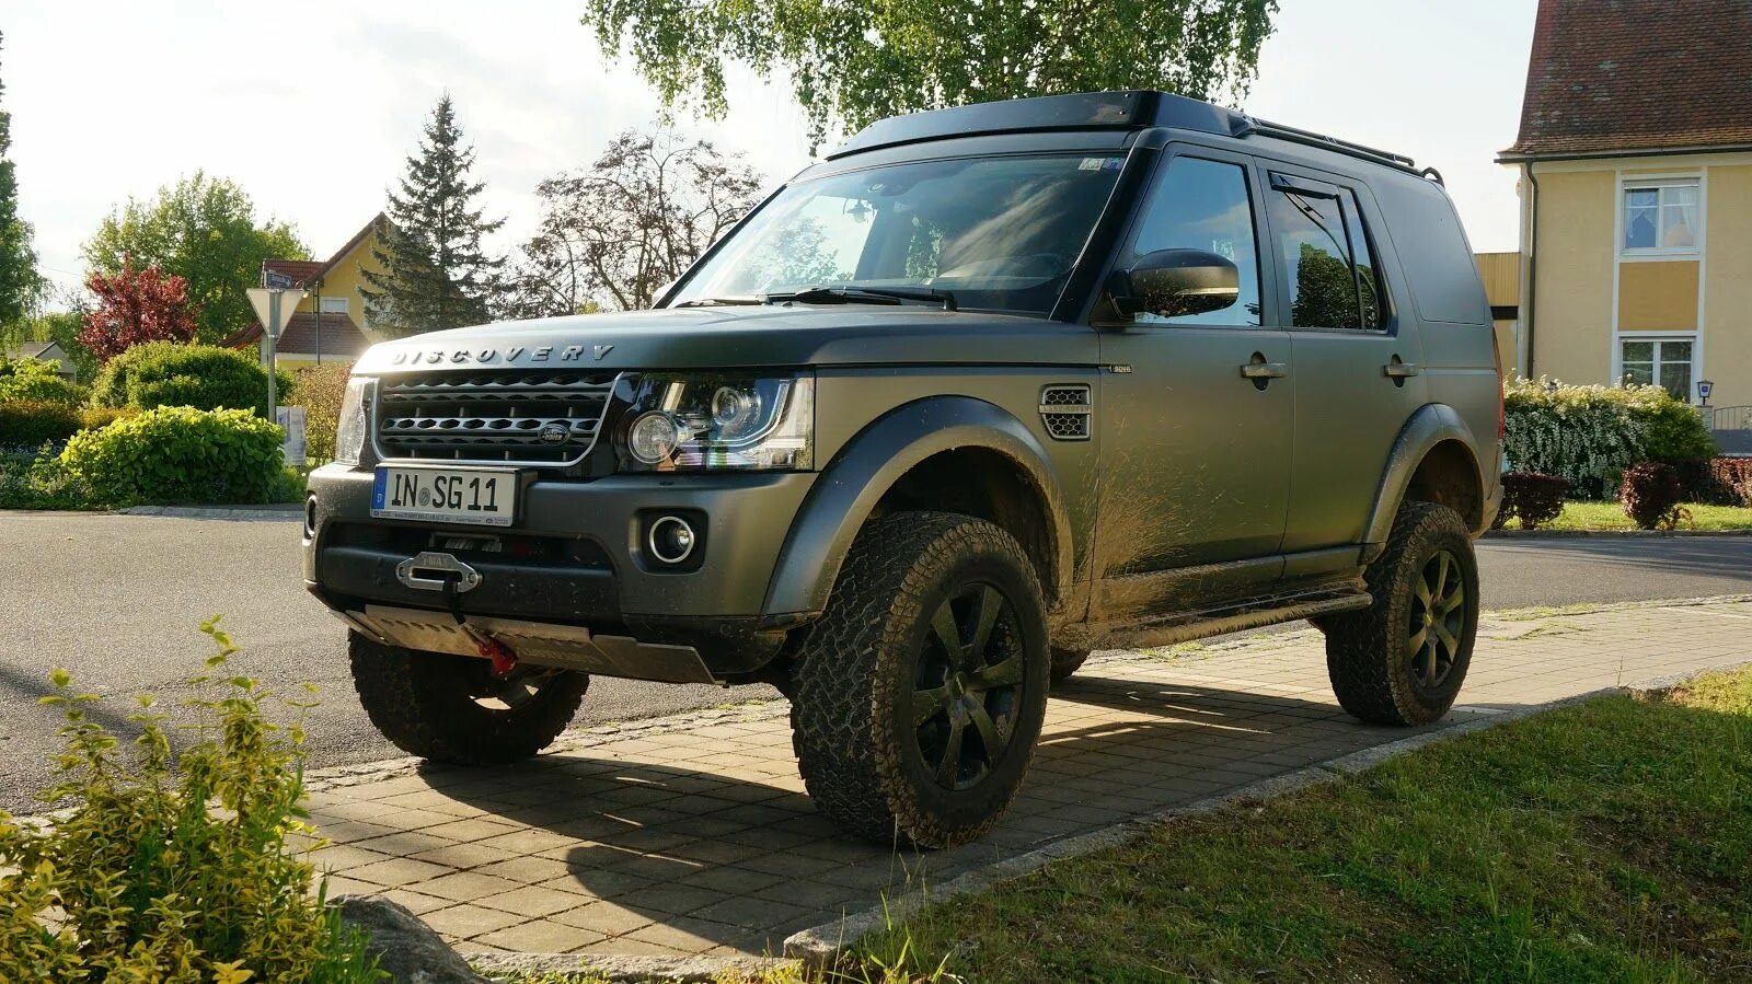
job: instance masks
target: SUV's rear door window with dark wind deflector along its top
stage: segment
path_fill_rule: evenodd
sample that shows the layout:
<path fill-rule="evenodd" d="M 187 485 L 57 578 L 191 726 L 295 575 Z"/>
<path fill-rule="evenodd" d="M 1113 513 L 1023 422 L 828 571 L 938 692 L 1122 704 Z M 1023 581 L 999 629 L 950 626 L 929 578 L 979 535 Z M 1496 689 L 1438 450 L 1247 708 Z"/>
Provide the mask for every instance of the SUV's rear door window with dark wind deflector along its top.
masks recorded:
<path fill-rule="evenodd" d="M 1289 277 L 1291 327 L 1382 327 L 1386 292 L 1356 196 L 1279 175 L 1272 186 L 1268 214 Z"/>

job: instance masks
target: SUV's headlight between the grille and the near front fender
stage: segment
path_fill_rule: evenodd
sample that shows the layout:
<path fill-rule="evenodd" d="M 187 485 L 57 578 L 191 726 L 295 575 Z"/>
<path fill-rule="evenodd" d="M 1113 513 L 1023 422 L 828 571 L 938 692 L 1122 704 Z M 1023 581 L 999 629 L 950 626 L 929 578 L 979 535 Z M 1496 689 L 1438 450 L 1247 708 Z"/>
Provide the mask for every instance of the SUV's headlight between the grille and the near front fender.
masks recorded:
<path fill-rule="evenodd" d="M 624 471 L 808 469 L 815 378 L 645 373 L 615 434 Z"/>

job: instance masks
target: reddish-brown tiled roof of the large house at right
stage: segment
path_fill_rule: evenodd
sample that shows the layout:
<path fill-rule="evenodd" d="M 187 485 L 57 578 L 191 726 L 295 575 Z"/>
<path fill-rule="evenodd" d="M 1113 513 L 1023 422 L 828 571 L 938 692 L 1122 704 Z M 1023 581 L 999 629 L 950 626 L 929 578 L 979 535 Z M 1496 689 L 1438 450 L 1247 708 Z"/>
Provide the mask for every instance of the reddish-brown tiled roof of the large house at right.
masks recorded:
<path fill-rule="evenodd" d="M 1752 0 L 1540 0 L 1505 159 L 1752 145 Z"/>

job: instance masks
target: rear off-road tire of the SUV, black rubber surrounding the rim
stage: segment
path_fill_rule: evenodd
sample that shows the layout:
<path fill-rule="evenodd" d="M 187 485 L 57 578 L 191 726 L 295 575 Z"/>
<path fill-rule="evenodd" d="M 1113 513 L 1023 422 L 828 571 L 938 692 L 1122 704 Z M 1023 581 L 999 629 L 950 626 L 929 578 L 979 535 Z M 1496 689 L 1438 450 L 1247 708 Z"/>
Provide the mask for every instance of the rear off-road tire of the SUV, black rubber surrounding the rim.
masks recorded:
<path fill-rule="evenodd" d="M 1445 674 L 1426 686 L 1412 667 L 1409 637 L 1419 609 L 1417 585 L 1438 553 L 1458 564 L 1465 590 L 1459 646 Z M 1365 574 L 1374 604 L 1321 616 L 1326 630 L 1326 674 L 1346 711 L 1374 725 L 1426 725 L 1447 714 L 1466 679 L 1479 630 L 1479 566 L 1472 534 L 1459 513 L 1433 503 L 1403 503 L 1393 518 L 1388 546 Z"/>

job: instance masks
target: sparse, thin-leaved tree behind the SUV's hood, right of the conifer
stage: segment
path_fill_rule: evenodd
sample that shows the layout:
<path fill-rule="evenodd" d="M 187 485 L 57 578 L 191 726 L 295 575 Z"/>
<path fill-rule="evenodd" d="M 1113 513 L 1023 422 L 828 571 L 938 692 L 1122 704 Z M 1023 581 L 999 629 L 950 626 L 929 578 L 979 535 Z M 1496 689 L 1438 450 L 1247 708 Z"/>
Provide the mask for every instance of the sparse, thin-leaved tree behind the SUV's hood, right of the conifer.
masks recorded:
<path fill-rule="evenodd" d="M 536 187 L 541 226 L 524 245 L 505 313 L 652 306 L 657 287 L 755 207 L 760 182 L 711 144 L 620 133 L 589 170 Z"/>

